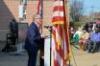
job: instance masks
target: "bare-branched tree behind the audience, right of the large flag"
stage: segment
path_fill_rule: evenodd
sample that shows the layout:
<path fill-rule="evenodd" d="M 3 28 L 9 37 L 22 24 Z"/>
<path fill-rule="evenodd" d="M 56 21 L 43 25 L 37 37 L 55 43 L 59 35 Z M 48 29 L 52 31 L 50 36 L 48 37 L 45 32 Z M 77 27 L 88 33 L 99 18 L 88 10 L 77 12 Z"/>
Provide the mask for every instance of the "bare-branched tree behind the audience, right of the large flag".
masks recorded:
<path fill-rule="evenodd" d="M 83 15 L 83 1 L 74 0 L 70 5 L 70 16 L 73 21 L 80 21 L 80 17 Z"/>

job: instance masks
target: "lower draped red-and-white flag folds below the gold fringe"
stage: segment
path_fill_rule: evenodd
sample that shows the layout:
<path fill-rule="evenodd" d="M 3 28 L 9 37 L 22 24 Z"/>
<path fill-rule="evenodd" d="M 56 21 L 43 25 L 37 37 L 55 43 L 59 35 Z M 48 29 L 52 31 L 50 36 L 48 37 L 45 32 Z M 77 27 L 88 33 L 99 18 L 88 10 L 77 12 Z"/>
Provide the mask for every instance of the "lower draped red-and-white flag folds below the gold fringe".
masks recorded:
<path fill-rule="evenodd" d="M 63 26 L 55 27 L 55 29 L 53 29 L 53 32 L 52 32 L 53 34 L 53 39 L 52 39 L 53 40 L 53 44 L 52 44 L 53 51 L 52 52 L 54 55 L 54 64 L 58 63 L 58 66 L 64 66 L 64 65 L 59 65 L 59 64 L 66 63 L 65 57 L 67 54 L 67 47 L 66 47 L 66 40 L 65 40 L 63 29 L 64 29 Z M 62 63 L 60 60 L 62 60 Z"/>

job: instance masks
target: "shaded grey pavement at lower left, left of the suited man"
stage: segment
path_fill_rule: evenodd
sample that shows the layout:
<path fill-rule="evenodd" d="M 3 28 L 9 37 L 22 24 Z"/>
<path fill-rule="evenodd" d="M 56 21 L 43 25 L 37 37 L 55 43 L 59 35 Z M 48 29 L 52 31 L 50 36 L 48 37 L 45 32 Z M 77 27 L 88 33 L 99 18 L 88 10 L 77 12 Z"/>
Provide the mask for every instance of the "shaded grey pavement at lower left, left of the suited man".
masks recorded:
<path fill-rule="evenodd" d="M 4 46 L 5 42 L 0 42 L 0 66 L 27 66 L 28 56 L 26 52 L 21 54 L 1 52 Z"/>

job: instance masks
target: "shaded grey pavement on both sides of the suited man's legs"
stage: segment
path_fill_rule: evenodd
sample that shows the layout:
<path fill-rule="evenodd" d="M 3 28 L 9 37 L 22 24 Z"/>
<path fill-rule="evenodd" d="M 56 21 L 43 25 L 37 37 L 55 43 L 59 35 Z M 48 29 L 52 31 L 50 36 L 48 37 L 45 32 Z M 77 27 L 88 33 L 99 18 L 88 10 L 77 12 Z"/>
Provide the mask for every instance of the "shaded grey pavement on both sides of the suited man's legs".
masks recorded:
<path fill-rule="evenodd" d="M 27 66 L 28 55 L 27 52 L 22 49 L 23 43 L 16 45 L 18 51 L 15 52 L 2 52 L 2 48 L 5 46 L 5 42 L 0 42 L 0 66 Z M 39 52 L 37 56 L 36 66 L 39 66 Z"/>

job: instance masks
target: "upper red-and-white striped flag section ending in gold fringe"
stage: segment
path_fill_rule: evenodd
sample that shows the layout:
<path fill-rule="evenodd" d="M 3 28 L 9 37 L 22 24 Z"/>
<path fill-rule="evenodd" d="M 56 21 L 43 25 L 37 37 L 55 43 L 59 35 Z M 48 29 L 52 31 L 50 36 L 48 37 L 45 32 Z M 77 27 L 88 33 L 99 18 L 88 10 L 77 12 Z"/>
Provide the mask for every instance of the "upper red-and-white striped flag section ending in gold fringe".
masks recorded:
<path fill-rule="evenodd" d="M 63 1 L 55 1 L 53 8 L 53 24 L 64 24 Z"/>

